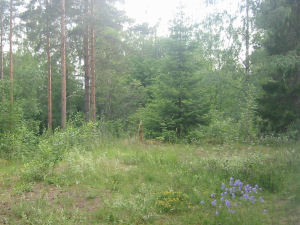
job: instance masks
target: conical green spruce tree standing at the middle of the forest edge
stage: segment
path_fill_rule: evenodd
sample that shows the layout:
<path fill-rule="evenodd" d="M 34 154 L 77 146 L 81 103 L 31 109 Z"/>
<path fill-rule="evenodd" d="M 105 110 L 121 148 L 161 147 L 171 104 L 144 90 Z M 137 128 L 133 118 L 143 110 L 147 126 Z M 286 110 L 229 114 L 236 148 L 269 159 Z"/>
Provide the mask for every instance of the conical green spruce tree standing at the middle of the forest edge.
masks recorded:
<path fill-rule="evenodd" d="M 153 99 L 141 111 L 147 137 L 174 141 L 175 136 L 184 137 L 206 122 L 208 106 L 199 85 L 201 62 L 195 61 L 192 29 L 179 12 L 170 28 L 170 38 L 164 41 L 166 55 L 151 88 Z"/>

